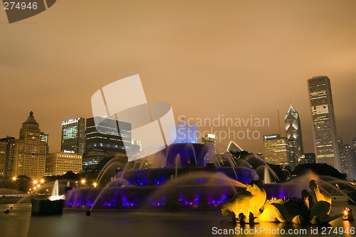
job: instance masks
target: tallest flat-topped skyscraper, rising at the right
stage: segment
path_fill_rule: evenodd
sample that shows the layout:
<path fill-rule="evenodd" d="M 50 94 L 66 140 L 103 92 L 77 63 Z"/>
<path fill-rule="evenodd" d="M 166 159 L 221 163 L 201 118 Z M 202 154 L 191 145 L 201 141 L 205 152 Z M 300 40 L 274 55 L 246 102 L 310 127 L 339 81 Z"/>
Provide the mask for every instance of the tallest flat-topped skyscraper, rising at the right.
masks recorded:
<path fill-rule="evenodd" d="M 330 79 L 327 76 L 310 78 L 308 90 L 313 117 L 316 162 L 329 164 L 341 172 Z"/>

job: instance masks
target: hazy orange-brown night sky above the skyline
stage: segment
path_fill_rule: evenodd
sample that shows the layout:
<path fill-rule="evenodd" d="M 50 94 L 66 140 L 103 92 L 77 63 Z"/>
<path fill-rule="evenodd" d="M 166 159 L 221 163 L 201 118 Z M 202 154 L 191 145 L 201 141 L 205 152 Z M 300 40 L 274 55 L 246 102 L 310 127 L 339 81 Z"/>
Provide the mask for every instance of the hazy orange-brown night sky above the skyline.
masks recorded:
<path fill-rule="evenodd" d="M 92 117 L 96 90 L 140 74 L 147 100 L 170 102 L 177 122 L 179 115 L 267 118 L 269 126 L 230 127 L 261 135 L 231 138 L 250 152 L 263 152 L 262 135 L 278 133 L 278 110 L 283 130 L 291 103 L 305 152 L 314 152 L 307 80 L 328 75 L 337 134 L 350 143 L 355 9 L 353 0 L 61 0 L 11 24 L 0 9 L 0 137 L 18 138 L 33 110 L 50 152 L 58 152 L 63 120 Z"/>

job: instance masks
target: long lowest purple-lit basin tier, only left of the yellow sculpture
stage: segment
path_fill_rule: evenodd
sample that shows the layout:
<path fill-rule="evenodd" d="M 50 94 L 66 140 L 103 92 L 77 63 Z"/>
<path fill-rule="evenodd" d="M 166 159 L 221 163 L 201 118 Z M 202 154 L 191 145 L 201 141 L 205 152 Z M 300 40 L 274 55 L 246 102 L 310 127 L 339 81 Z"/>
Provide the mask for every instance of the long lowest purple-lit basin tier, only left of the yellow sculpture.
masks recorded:
<path fill-rule="evenodd" d="M 243 188 L 239 188 L 243 190 Z M 159 209 L 216 207 L 236 194 L 229 185 L 122 186 L 68 191 L 66 207 L 95 209 Z M 95 201 L 96 200 L 96 201 Z"/>

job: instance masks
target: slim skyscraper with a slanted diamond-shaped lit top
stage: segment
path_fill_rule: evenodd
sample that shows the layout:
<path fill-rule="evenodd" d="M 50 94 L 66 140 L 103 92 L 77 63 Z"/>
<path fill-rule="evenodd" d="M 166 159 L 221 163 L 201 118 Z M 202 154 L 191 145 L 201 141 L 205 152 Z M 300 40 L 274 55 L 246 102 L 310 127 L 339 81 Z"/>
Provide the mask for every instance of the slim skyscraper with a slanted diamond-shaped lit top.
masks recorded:
<path fill-rule="evenodd" d="M 289 165 L 295 167 L 300 162 L 300 157 L 303 156 L 303 139 L 302 128 L 300 125 L 300 117 L 298 112 L 290 105 L 286 116 L 284 117 L 286 125 L 286 138 L 288 145 Z"/>

